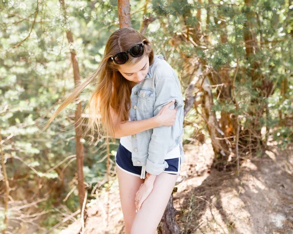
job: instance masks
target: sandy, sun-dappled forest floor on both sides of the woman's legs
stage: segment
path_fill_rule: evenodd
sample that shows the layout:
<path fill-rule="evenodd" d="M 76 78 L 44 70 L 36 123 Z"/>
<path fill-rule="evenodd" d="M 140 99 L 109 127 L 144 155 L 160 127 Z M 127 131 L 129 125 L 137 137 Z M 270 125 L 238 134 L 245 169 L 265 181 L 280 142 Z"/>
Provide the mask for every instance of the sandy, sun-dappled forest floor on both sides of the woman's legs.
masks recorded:
<path fill-rule="evenodd" d="M 247 158 L 239 176 L 210 170 L 211 144 L 185 145 L 185 162 L 173 194 L 182 234 L 293 234 L 293 144 L 270 143 L 260 157 Z M 79 221 L 61 234 L 74 234 Z M 85 234 L 124 234 L 118 180 L 99 192 L 88 208 Z"/>

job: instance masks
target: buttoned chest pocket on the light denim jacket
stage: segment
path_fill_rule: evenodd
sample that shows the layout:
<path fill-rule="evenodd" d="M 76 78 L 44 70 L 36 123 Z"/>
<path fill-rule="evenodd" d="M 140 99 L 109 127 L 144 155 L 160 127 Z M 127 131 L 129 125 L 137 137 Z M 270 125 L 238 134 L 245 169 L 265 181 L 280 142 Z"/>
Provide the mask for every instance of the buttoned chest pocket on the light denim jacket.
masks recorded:
<path fill-rule="evenodd" d="M 151 88 L 141 88 L 138 92 L 138 108 L 145 118 L 153 117 L 153 106 L 155 104 L 155 92 Z"/>

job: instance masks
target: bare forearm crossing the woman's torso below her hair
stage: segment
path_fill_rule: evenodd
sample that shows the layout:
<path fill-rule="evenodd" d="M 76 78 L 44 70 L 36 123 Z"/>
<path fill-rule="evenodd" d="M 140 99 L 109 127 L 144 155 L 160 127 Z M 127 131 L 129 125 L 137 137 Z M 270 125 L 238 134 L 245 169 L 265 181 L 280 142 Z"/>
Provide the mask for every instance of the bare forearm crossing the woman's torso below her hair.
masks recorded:
<path fill-rule="evenodd" d="M 126 123 L 121 123 L 115 130 L 115 138 L 120 138 L 122 136 L 133 135 L 151 128 L 159 127 L 157 117 L 151 117 L 149 119 L 137 120 L 137 121 L 126 121 Z"/>

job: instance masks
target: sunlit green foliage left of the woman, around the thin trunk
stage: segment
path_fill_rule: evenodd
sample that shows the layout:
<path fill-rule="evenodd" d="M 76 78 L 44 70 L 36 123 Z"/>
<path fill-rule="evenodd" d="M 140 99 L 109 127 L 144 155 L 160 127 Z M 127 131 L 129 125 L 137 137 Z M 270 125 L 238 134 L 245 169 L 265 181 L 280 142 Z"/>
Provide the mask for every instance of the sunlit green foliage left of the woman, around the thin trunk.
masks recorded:
<path fill-rule="evenodd" d="M 47 172 L 67 156 L 75 154 L 74 125 L 72 118 L 68 117 L 74 115 L 75 105 L 66 107 L 49 129 L 40 132 L 74 88 L 66 29 L 73 32 L 74 44 L 71 46 L 76 49 L 84 78 L 97 67 L 105 42 L 118 23 L 116 1 L 96 1 L 94 7 L 86 0 L 65 2 L 69 16 L 66 24 L 58 1 L 4 0 L 0 3 L 0 21 L 3 22 L 0 24 L 0 110 L 3 110 L 0 133 L 3 139 L 12 136 L 12 140 L 3 144 L 8 158 L 6 169 L 9 178 L 23 177 L 17 186 L 26 188 L 27 199 L 31 197 L 29 191 L 38 188 L 37 181 L 42 181 L 40 196 L 49 192 L 50 197 L 39 204 L 40 210 L 50 210 L 60 204 L 77 185 L 74 179 L 76 160 L 66 168 L 64 166 L 70 160 L 60 165 L 60 170 Z M 92 89 L 93 85 L 82 92 L 83 107 Z M 90 141 L 84 141 L 85 181 L 91 185 L 105 176 L 105 161 L 96 163 L 105 156 L 105 151 L 97 152 L 103 143 L 94 146 Z M 117 149 L 117 146 L 110 149 Z M 92 151 L 96 151 L 95 154 Z M 59 173 L 63 168 L 61 177 Z M 64 181 L 59 188 L 61 178 Z M 54 187 L 56 183 L 58 186 Z M 72 212 L 79 209 L 77 192 L 74 191 L 63 203 Z M 43 219 L 42 226 L 49 228 L 63 219 L 58 212 L 51 214 Z"/>

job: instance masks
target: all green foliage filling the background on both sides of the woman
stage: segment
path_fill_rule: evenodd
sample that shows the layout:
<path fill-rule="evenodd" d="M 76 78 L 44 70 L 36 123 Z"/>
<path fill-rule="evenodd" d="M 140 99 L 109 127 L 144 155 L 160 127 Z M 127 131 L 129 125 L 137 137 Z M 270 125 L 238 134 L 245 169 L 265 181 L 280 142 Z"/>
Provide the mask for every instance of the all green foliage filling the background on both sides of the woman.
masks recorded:
<path fill-rule="evenodd" d="M 70 159 L 58 167 L 60 170 L 64 168 L 63 185 L 60 170 L 47 171 L 67 156 L 75 154 L 74 121 L 70 117 L 74 115 L 75 104 L 67 106 L 49 129 L 42 133 L 40 130 L 74 88 L 66 30 L 70 29 L 73 33 L 74 43 L 70 46 L 76 50 L 84 78 L 92 74 L 101 61 L 105 43 L 110 34 L 118 29 L 119 21 L 116 0 L 65 0 L 65 3 L 68 14 L 66 21 L 59 1 L 1 1 L 0 133 L 5 139 L 2 147 L 9 178 L 21 178 L 16 180 L 16 185 L 25 188 L 26 195 L 31 195 L 32 187 L 38 188 L 37 181 L 41 181 L 40 196 L 50 193 L 49 199 L 39 204 L 41 210 L 50 210 L 63 203 L 74 212 L 79 209 L 77 189 L 74 189 L 77 185 L 76 160 L 66 168 Z M 131 23 L 137 30 L 141 28 L 144 4 L 145 1 L 130 1 L 133 13 Z M 201 10 L 199 35 L 202 36 L 199 46 L 181 42 L 175 49 L 169 40 L 182 36 L 183 32 L 187 33 L 186 23 L 194 28 L 198 26 L 198 10 Z M 199 3 L 191 0 L 152 0 L 147 3 L 146 15 L 149 12 L 160 18 L 149 24 L 146 37 L 152 42 L 155 54 L 165 55 L 167 62 L 183 78 L 183 91 L 190 77 L 185 77 L 182 54 L 198 57 L 214 70 L 227 65 L 230 80 L 234 79 L 238 67 L 235 95 L 239 108 L 236 110 L 235 103 L 230 100 L 220 102 L 217 91 L 221 87 L 213 88 L 212 110 L 217 113 L 217 118 L 220 118 L 221 112 L 229 112 L 240 116 L 241 127 L 249 128 L 254 116 L 247 113 L 251 109 L 258 109 L 259 103 L 265 103 L 269 115 L 261 116 L 261 127 L 272 129 L 273 140 L 282 149 L 292 141 L 292 126 L 283 123 L 293 115 L 293 6 L 289 5 L 289 1 L 259 0 L 252 1 L 251 6 L 245 6 L 244 1 L 203 0 Z M 253 12 L 252 31 L 260 46 L 258 53 L 250 58 L 247 58 L 244 41 L 248 12 Z M 183 16 L 189 13 L 186 21 L 183 21 Z M 222 21 L 225 22 L 224 26 Z M 225 43 L 221 42 L 223 35 L 227 36 Z M 254 70 L 255 62 L 259 66 Z M 262 92 L 260 79 L 252 81 L 252 72 L 267 78 L 274 85 L 274 92 L 265 100 L 259 95 Z M 283 95 L 281 89 L 286 80 L 288 88 Z M 254 85 L 260 85 L 260 88 L 253 89 Z M 89 85 L 82 92 L 83 108 L 93 88 L 93 84 Z M 255 104 L 251 105 L 251 100 L 256 100 Z M 194 110 L 190 113 L 188 120 L 203 128 L 201 132 L 207 134 L 200 115 Z M 188 126 L 188 133 L 191 134 L 192 128 Z M 106 160 L 96 163 L 105 156 L 105 150 L 100 149 L 104 142 L 95 145 L 90 139 L 84 139 L 84 177 L 90 185 L 89 191 L 97 182 L 105 179 L 106 172 Z M 112 160 L 117 142 L 116 145 L 110 145 Z M 109 186 L 111 184 L 105 184 L 105 187 Z M 53 187 L 55 190 L 51 191 Z M 74 191 L 63 202 L 72 189 Z M 62 218 L 60 213 L 53 212 L 43 219 L 42 226 L 52 227 Z"/>

